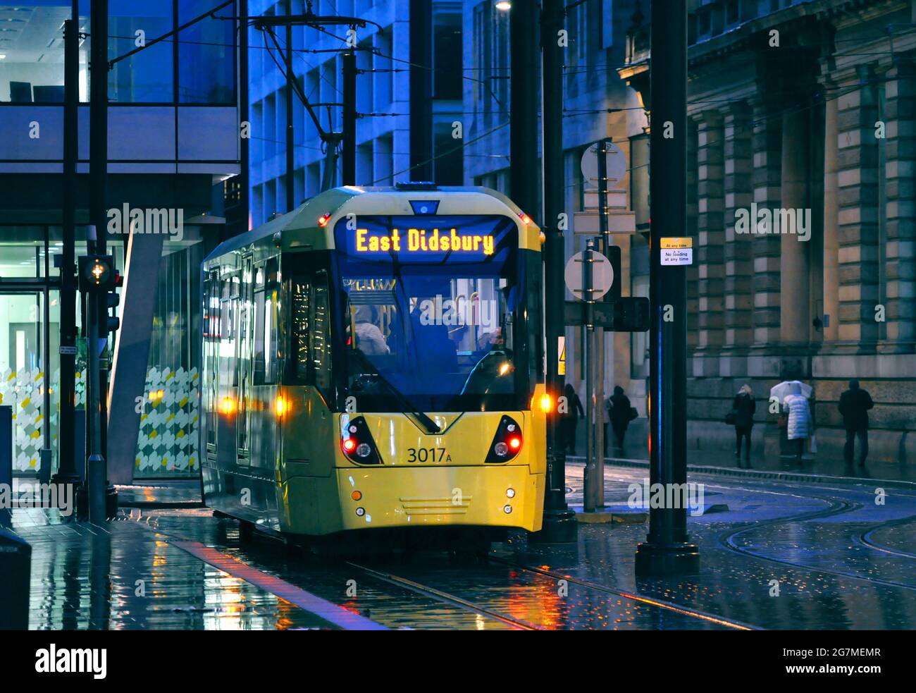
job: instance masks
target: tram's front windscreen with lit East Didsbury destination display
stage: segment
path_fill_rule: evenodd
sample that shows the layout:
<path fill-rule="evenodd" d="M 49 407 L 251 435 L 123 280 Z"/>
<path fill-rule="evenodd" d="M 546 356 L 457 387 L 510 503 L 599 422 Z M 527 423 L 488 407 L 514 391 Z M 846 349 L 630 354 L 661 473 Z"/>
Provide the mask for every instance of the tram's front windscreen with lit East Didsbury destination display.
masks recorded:
<path fill-rule="evenodd" d="M 360 215 L 334 240 L 341 366 L 360 410 L 527 407 L 526 265 L 512 219 Z"/>

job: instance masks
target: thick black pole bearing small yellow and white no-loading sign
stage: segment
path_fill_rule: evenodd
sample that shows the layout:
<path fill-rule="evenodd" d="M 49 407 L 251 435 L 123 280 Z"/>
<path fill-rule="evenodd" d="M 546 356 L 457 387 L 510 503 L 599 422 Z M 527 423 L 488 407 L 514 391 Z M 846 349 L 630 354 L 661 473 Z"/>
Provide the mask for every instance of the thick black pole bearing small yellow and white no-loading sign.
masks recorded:
<path fill-rule="evenodd" d="M 686 488 L 669 485 L 687 480 L 686 268 L 660 264 L 661 237 L 687 235 L 686 2 L 652 0 L 650 40 L 649 483 L 661 484 L 667 496 L 670 489 Z M 674 137 L 665 137 L 666 123 Z M 673 319 L 665 322 L 671 312 Z M 688 542 L 687 509 L 674 505 L 649 509 L 649 536 L 637 548 L 638 574 L 699 569 L 700 554 Z"/>

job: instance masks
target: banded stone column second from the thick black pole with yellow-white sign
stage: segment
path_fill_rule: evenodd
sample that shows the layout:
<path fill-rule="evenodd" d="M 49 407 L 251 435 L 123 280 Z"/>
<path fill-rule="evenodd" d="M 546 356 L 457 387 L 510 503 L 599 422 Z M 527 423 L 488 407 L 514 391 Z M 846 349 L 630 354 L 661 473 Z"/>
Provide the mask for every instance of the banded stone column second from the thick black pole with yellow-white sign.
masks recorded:
<path fill-rule="evenodd" d="M 750 210 L 754 200 L 751 135 L 750 107 L 733 104 L 725 113 L 725 346 L 732 350 L 749 347 L 753 339 L 754 236 L 735 232 L 736 210 Z"/>

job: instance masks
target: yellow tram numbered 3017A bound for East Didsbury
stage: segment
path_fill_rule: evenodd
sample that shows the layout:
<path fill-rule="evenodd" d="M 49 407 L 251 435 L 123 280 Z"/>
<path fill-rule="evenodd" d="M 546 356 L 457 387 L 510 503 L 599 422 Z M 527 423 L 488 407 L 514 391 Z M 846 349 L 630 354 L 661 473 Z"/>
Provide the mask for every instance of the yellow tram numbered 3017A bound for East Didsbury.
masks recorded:
<path fill-rule="evenodd" d="M 540 529 L 540 229 L 504 195 L 336 188 L 202 270 L 207 506 L 333 541 Z"/>

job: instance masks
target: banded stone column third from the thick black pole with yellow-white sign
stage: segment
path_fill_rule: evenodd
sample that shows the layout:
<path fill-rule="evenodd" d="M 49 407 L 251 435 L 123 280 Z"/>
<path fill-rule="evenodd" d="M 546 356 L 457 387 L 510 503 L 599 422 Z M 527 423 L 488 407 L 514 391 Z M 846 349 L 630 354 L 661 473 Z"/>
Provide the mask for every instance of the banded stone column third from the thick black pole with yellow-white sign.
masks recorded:
<path fill-rule="evenodd" d="M 762 89 L 762 87 L 761 87 Z M 754 135 L 751 139 L 754 170 L 754 202 L 758 207 L 780 206 L 782 124 L 777 99 L 763 93 L 751 101 Z M 751 219 L 753 229 L 755 220 Z M 769 350 L 780 341 L 780 238 L 755 235 L 754 240 L 754 346 Z"/>

